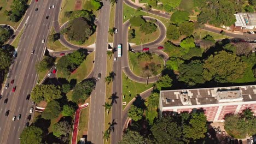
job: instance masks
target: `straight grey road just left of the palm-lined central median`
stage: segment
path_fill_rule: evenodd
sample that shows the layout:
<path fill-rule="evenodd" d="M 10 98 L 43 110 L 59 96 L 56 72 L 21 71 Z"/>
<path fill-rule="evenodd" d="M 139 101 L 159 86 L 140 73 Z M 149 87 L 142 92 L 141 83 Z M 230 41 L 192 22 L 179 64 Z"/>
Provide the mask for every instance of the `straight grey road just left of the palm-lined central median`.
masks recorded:
<path fill-rule="evenodd" d="M 96 30 L 96 50 L 94 77 L 101 74 L 96 83 L 96 88 L 91 94 L 88 141 L 91 143 L 103 143 L 104 131 L 104 103 L 106 98 L 106 70 L 107 70 L 107 48 L 108 48 L 108 28 L 110 5 L 109 1 L 102 1 L 103 7 L 100 9 L 100 15 Z"/>

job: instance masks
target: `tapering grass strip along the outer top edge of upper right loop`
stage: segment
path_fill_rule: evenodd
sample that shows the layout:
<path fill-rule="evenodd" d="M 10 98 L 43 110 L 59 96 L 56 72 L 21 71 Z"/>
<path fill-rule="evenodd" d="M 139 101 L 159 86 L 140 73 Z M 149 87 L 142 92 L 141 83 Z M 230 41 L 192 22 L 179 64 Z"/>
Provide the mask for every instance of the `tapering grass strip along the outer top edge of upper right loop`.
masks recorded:
<path fill-rule="evenodd" d="M 155 19 L 160 20 L 162 23 L 164 23 L 165 27 L 167 27 L 170 24 L 169 19 L 165 19 L 164 17 L 148 14 L 144 11 L 137 11 L 137 9 L 133 9 L 126 4 L 124 4 L 123 9 L 124 9 L 124 13 L 123 13 L 123 15 L 124 15 L 123 21 L 124 22 L 129 20 L 133 16 L 143 15 L 143 16 L 151 16 L 151 17 L 154 17 Z"/>

